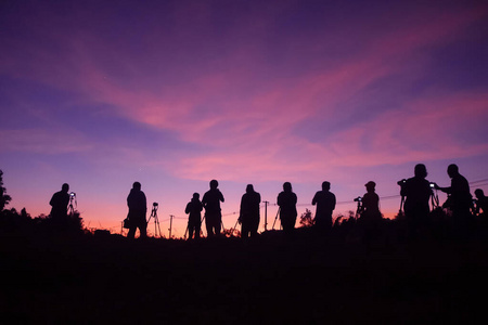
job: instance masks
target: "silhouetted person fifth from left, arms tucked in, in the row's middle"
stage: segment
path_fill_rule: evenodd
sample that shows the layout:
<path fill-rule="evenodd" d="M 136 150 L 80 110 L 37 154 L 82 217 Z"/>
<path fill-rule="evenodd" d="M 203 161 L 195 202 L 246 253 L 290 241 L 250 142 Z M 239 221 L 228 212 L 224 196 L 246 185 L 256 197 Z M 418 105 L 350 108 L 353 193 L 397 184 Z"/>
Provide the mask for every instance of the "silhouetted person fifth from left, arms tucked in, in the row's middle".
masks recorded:
<path fill-rule="evenodd" d="M 248 184 L 246 193 L 241 198 L 239 222 L 242 224 L 242 238 L 255 237 L 259 227 L 259 204 L 261 195 Z"/>

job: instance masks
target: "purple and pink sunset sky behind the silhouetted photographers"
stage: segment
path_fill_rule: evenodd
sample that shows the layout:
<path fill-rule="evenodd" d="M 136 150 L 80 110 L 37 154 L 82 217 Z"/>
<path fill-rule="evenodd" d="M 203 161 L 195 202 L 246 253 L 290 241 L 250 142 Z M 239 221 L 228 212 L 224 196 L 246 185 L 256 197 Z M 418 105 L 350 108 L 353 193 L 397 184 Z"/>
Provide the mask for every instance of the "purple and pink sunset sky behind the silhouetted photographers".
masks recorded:
<path fill-rule="evenodd" d="M 486 1 L 5 0 L 0 44 L 0 169 L 33 217 L 66 182 L 120 233 L 139 181 L 179 237 L 211 179 L 227 229 L 249 183 L 268 229 L 286 181 L 298 213 L 330 181 L 335 216 L 375 181 L 393 217 L 419 162 L 488 192 Z"/>

